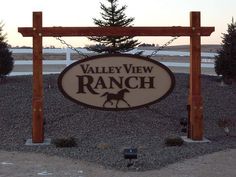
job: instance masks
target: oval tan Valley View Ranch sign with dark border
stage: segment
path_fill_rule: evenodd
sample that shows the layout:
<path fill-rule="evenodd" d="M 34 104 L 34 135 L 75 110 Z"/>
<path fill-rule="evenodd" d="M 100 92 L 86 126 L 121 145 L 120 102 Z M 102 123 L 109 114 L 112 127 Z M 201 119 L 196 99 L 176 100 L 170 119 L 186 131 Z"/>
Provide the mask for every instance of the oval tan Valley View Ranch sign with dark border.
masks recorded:
<path fill-rule="evenodd" d="M 65 68 L 58 86 L 70 100 L 96 109 L 128 110 L 171 93 L 175 79 L 165 65 L 136 55 L 99 55 Z"/>

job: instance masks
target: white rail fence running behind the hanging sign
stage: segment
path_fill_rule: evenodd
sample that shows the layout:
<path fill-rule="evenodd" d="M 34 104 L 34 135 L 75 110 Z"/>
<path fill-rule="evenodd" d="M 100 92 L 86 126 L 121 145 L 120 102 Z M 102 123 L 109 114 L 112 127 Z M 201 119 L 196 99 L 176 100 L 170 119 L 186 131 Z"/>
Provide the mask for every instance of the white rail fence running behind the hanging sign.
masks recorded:
<path fill-rule="evenodd" d="M 13 54 L 32 54 L 32 49 L 10 49 Z M 78 49 L 80 52 L 86 54 L 86 55 L 93 55 L 94 53 L 91 51 L 88 51 L 84 48 L 79 48 Z M 128 53 L 130 54 L 135 54 L 137 52 L 143 51 L 144 56 L 150 55 L 153 50 L 140 50 L 140 49 L 134 49 Z M 76 54 L 75 51 L 71 50 L 70 48 L 62 48 L 62 49 L 43 49 L 44 54 L 62 54 L 65 55 L 65 58 L 63 60 L 49 60 L 47 58 L 44 58 L 43 60 L 43 65 L 64 65 L 68 66 L 71 63 L 75 62 L 76 60 L 72 59 L 72 54 Z M 213 63 L 213 58 L 216 55 L 216 53 L 201 53 L 202 56 L 202 64 L 201 67 L 204 69 L 211 69 L 213 70 L 214 68 L 214 63 Z M 181 51 L 159 51 L 157 56 L 189 56 L 189 52 L 181 52 Z M 176 68 L 188 68 L 189 63 L 188 62 L 161 62 L 162 64 L 168 66 L 168 67 L 176 67 Z M 15 60 L 15 66 L 31 66 L 32 65 L 32 60 Z M 47 72 L 44 71 L 44 74 L 48 73 L 59 73 L 60 70 L 56 72 Z M 11 73 L 11 75 L 23 75 L 23 74 L 32 74 L 31 71 L 23 71 L 23 72 L 17 72 L 14 71 Z"/>

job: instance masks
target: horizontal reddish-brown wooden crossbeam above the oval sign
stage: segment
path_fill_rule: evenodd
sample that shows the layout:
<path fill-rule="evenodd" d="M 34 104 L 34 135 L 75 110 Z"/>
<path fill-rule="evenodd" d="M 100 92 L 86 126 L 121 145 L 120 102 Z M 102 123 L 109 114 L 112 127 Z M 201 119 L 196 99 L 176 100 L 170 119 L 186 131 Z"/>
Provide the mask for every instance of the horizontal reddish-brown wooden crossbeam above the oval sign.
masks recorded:
<path fill-rule="evenodd" d="M 34 28 L 18 28 L 24 37 L 31 37 Z M 45 37 L 59 36 L 210 36 L 214 27 L 43 27 Z"/>

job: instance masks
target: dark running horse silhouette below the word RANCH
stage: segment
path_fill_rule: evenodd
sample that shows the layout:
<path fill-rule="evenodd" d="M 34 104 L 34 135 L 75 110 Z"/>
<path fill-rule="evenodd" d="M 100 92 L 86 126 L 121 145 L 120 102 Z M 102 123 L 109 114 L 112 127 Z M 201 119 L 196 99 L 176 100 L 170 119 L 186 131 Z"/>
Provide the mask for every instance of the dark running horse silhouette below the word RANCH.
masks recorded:
<path fill-rule="evenodd" d="M 103 97 L 103 96 L 107 97 L 107 99 L 103 103 L 103 107 L 105 107 L 106 103 L 108 103 L 108 102 L 111 103 L 111 105 L 113 105 L 112 100 L 117 101 L 116 102 L 116 108 L 118 108 L 119 101 L 125 102 L 130 107 L 129 103 L 124 99 L 125 93 L 129 93 L 129 90 L 128 89 L 122 89 L 117 94 L 105 92 L 104 94 L 101 95 L 101 97 Z"/>

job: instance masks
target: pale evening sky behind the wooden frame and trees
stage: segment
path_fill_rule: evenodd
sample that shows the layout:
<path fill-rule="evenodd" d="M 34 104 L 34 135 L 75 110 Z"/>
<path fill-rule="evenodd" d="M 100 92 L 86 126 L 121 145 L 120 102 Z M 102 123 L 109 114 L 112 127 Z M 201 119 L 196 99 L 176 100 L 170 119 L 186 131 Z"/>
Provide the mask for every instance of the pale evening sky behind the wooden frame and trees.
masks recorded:
<path fill-rule="evenodd" d="M 2 1 L 0 21 L 12 46 L 32 46 L 31 37 L 22 37 L 18 27 L 32 27 L 32 12 L 43 12 L 43 26 L 95 26 L 93 18 L 100 18 L 100 2 L 107 0 L 7 0 Z M 220 44 L 227 24 L 236 18 L 236 0 L 119 0 L 127 5 L 133 26 L 189 26 L 190 11 L 201 12 L 201 25 L 214 26 L 215 32 L 202 37 L 202 44 Z M 172 37 L 137 37 L 141 43 L 163 45 Z M 64 37 L 74 47 L 92 44 L 86 37 Z M 180 37 L 172 45 L 189 44 L 189 37 Z M 43 46 L 66 47 L 53 37 L 43 38 Z"/>

